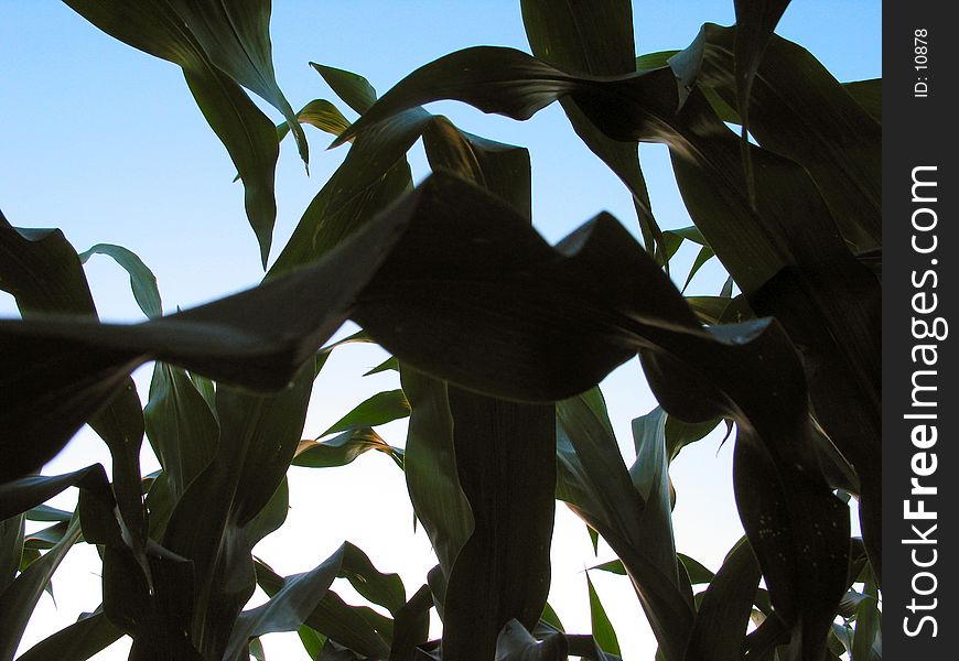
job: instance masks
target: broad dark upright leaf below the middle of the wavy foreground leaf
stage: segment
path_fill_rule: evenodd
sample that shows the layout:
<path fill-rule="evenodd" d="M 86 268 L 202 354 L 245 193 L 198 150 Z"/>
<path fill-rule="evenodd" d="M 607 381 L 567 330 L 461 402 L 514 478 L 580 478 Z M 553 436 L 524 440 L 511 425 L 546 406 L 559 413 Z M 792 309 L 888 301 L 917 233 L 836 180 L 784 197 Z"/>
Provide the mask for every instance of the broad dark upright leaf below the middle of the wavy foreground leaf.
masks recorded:
<path fill-rule="evenodd" d="M 449 387 L 453 444 L 473 533 L 443 600 L 443 651 L 492 657 L 511 618 L 534 627 L 549 593 L 556 490 L 556 415 Z M 434 496 L 435 497 L 435 496 Z"/>

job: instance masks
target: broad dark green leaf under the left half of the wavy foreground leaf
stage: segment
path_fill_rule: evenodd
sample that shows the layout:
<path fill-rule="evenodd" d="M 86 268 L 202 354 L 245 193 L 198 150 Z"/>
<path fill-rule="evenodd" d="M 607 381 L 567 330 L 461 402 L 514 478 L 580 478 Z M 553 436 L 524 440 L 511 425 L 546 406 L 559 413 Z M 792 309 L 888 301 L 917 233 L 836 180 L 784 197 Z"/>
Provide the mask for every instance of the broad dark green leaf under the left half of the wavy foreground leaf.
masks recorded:
<path fill-rule="evenodd" d="M 164 533 L 164 545 L 195 567 L 192 632 L 201 653 L 222 655 L 233 622 L 254 592 L 250 546 L 257 540 L 250 533 L 265 530 L 257 516 L 285 476 L 303 431 L 312 382 L 312 366 L 306 365 L 276 395 L 217 389 L 216 456 L 187 487 Z"/>

